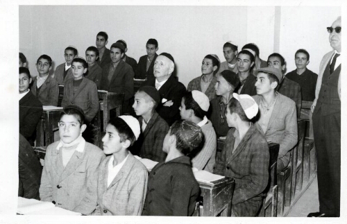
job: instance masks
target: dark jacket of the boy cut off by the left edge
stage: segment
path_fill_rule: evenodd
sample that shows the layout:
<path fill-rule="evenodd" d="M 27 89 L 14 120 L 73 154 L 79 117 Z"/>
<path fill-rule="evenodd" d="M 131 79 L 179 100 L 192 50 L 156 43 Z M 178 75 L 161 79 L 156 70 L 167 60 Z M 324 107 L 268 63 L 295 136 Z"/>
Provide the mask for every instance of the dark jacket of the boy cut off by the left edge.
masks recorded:
<path fill-rule="evenodd" d="M 32 145 L 35 141 L 35 130 L 42 115 L 42 103 L 29 91 L 19 100 L 19 133 Z"/>

